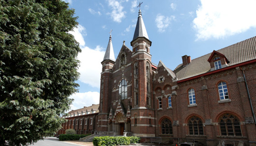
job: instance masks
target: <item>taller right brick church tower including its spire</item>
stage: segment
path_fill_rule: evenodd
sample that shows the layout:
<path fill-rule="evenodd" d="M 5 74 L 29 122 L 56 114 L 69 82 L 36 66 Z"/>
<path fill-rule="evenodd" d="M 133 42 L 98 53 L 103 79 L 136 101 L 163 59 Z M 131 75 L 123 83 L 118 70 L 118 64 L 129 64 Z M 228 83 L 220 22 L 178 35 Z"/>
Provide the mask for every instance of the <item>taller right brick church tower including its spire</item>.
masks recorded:
<path fill-rule="evenodd" d="M 140 9 L 131 46 L 133 69 L 131 130 L 134 136 L 154 137 L 155 114 L 152 98 L 151 41 L 148 39 Z"/>

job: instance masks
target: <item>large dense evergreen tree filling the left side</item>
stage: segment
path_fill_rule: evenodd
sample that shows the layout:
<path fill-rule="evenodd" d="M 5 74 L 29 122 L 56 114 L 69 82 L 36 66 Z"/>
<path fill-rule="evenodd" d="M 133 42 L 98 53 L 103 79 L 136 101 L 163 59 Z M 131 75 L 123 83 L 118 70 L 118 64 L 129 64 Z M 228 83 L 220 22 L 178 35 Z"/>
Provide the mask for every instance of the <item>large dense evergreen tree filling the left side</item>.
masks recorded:
<path fill-rule="evenodd" d="M 77 92 L 78 23 L 62 0 L 0 0 L 0 145 L 53 135 Z"/>

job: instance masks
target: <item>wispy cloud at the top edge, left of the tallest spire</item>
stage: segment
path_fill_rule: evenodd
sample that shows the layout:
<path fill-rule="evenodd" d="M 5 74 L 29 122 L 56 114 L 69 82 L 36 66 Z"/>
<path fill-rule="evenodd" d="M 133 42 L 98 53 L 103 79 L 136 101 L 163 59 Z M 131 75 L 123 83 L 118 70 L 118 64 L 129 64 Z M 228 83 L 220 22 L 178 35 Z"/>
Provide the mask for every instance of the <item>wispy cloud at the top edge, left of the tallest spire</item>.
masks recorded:
<path fill-rule="evenodd" d="M 123 11 L 124 7 L 121 5 L 123 1 L 108 0 L 108 2 L 109 2 L 109 6 L 112 9 L 112 12 L 107 14 L 110 15 L 113 21 L 118 23 L 122 22 L 122 19 L 125 18 L 125 13 L 126 13 L 126 11 Z"/>

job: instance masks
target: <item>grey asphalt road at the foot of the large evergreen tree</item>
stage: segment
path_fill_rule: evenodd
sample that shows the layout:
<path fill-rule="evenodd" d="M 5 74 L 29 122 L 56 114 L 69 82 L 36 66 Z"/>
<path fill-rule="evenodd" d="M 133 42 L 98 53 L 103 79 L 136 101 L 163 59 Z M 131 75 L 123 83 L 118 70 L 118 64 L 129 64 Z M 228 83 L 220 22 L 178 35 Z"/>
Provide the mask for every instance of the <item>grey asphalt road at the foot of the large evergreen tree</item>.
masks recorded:
<path fill-rule="evenodd" d="M 48 138 L 44 138 L 44 140 L 37 141 L 37 143 L 35 143 L 34 145 L 29 145 L 29 146 L 79 146 L 79 145 L 59 141 L 59 138 L 48 137 Z"/>

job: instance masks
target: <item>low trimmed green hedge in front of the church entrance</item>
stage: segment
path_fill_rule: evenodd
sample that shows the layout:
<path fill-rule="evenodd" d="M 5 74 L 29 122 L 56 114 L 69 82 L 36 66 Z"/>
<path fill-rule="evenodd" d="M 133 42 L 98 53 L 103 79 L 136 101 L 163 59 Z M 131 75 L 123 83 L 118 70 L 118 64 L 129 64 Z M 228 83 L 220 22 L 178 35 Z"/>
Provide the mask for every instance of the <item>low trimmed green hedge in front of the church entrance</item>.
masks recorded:
<path fill-rule="evenodd" d="M 139 137 L 94 137 L 92 143 L 94 146 L 116 146 L 136 144 L 140 140 Z"/>

